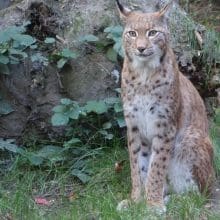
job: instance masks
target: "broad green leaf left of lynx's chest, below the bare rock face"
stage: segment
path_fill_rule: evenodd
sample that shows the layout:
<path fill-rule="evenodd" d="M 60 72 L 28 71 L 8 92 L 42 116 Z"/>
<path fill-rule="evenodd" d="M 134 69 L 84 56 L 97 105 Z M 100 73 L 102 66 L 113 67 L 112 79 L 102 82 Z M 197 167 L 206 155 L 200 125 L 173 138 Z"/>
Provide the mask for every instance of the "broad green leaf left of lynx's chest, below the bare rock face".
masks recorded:
<path fill-rule="evenodd" d="M 103 101 L 88 101 L 85 105 L 86 112 L 95 112 L 97 114 L 103 114 L 108 111 L 107 105 Z"/>

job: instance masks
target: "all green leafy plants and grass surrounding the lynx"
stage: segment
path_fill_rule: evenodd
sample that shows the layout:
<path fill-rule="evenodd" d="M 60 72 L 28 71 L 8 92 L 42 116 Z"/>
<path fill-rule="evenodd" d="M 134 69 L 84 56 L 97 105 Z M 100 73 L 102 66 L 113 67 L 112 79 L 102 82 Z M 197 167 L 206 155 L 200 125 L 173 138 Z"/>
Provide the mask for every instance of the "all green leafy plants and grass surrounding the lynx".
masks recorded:
<path fill-rule="evenodd" d="M 76 51 L 60 48 L 53 37 L 39 41 L 26 34 L 28 24 L 11 26 L 0 33 L 1 74 L 10 74 L 10 65 L 26 59 L 44 67 L 52 64 L 59 71 L 80 56 Z M 216 59 L 220 57 L 219 34 L 207 31 L 200 47 L 194 26 L 187 25 L 190 47 L 201 53 L 208 82 L 213 67 L 220 63 Z M 99 37 L 92 34 L 81 37 L 79 44 L 91 46 L 117 63 L 124 56 L 121 34 L 121 26 L 110 26 Z M 13 111 L 10 103 L 0 96 L 0 117 Z M 120 89 L 116 97 L 84 104 L 63 98 L 52 112 L 51 123 L 63 128 L 62 137 L 44 140 L 24 136 L 19 146 L 14 139 L 0 138 L 0 219 L 220 218 L 218 210 L 210 210 L 207 198 L 196 193 L 172 195 L 166 216 L 148 210 L 145 202 L 130 204 L 123 212 L 116 211 L 118 202 L 129 197 L 131 188 Z M 219 176 L 219 108 L 215 109 L 210 133 Z"/>

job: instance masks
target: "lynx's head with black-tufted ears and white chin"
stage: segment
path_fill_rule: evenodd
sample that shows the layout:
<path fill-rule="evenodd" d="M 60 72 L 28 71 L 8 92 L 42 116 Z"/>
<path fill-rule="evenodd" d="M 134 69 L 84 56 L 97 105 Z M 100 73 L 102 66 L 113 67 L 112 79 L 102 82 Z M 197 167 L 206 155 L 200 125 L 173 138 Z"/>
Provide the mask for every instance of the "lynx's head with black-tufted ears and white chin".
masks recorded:
<path fill-rule="evenodd" d="M 165 14 L 172 1 L 154 13 L 131 11 L 118 0 L 116 2 L 120 17 L 125 21 L 123 46 L 128 60 L 135 67 L 159 66 L 166 53 L 168 31 Z"/>

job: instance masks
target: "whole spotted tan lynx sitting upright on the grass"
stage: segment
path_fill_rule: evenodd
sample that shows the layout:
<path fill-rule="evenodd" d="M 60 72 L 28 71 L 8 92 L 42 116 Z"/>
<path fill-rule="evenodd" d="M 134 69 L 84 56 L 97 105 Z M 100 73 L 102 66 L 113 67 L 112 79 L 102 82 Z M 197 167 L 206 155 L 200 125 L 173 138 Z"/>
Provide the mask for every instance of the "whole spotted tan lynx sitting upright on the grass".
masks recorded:
<path fill-rule="evenodd" d="M 199 93 L 179 71 L 168 42 L 166 5 L 155 13 L 131 11 L 116 0 L 125 21 L 122 100 L 135 202 L 165 209 L 176 193 L 210 189 L 213 148 Z M 123 202 L 123 201 L 122 201 Z"/>

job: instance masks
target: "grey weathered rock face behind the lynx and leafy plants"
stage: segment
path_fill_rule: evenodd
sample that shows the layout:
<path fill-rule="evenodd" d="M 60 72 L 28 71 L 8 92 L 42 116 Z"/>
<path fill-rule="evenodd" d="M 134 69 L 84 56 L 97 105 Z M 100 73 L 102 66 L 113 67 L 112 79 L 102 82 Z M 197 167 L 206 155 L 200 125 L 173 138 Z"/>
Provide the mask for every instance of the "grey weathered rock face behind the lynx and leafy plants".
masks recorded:
<path fill-rule="evenodd" d="M 129 7 L 149 12 L 159 10 L 169 0 L 121 1 Z M 40 17 L 36 16 L 39 10 Z M 119 24 L 115 1 L 0 0 L 0 17 L 0 30 L 30 20 L 32 24 L 28 34 L 39 40 L 46 36 L 58 36 L 63 39 L 62 43 L 57 43 L 59 48 L 78 50 L 81 54 L 60 73 L 51 65 L 36 70 L 35 66 L 25 61 L 24 64 L 11 67 L 9 76 L 0 75 L 0 91 L 16 110 L 0 117 L 0 137 L 20 137 L 29 128 L 51 134 L 51 109 L 62 97 L 85 102 L 114 95 L 114 88 L 119 87 L 116 65 L 105 54 L 94 51 L 89 53 L 86 47 L 78 44 L 78 40 L 86 34 L 102 36 L 105 27 Z M 33 19 L 38 21 L 34 22 Z M 172 47 L 181 63 L 188 66 L 194 51 L 191 51 L 187 30 L 198 29 L 200 26 L 188 18 L 178 4 L 174 4 L 168 19 Z"/>

